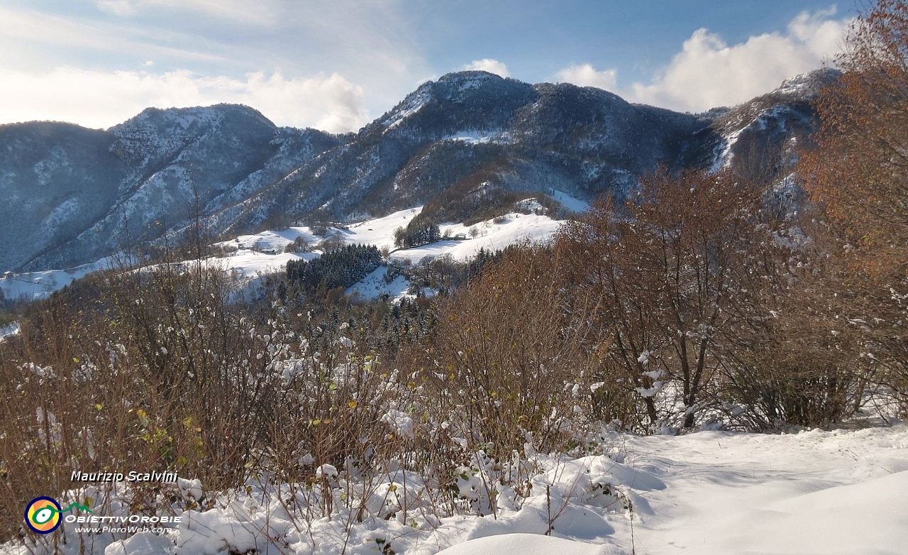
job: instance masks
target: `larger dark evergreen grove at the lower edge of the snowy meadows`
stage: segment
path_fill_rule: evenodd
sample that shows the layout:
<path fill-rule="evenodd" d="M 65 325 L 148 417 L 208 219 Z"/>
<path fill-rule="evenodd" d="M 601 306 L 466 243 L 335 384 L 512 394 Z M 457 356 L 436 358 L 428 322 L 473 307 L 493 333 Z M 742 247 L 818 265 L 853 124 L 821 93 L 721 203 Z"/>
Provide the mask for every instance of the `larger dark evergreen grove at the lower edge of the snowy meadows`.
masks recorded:
<path fill-rule="evenodd" d="M 311 261 L 287 263 L 287 280 L 310 290 L 350 287 L 381 264 L 375 245 L 347 245 Z"/>

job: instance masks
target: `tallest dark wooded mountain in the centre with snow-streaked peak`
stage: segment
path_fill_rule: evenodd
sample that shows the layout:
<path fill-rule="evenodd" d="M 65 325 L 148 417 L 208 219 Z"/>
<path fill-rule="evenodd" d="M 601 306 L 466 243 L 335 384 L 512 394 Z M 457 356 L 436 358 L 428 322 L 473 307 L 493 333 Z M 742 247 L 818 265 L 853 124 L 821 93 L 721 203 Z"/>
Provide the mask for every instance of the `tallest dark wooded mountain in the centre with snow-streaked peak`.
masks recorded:
<path fill-rule="evenodd" d="M 419 203 L 456 220 L 507 191 L 620 194 L 657 164 L 703 164 L 717 140 L 709 123 L 590 87 L 447 74 L 219 224 L 238 231 L 281 211 L 346 219 Z"/>

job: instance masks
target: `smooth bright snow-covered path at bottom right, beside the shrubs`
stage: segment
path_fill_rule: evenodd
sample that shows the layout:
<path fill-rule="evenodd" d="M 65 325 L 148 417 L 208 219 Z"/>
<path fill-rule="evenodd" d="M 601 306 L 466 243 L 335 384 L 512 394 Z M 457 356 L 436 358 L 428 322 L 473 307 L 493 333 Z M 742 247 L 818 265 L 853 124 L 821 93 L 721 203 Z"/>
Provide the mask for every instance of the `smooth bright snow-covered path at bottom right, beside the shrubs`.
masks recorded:
<path fill-rule="evenodd" d="M 704 431 L 623 437 L 626 463 L 665 483 L 636 491 L 633 547 L 698 553 L 904 555 L 908 553 L 908 425 L 762 435 Z M 648 509 L 646 504 L 649 505 Z M 629 521 L 597 546 L 523 535 L 472 540 L 466 553 L 631 553 Z M 558 528 L 573 528 L 556 522 Z"/>

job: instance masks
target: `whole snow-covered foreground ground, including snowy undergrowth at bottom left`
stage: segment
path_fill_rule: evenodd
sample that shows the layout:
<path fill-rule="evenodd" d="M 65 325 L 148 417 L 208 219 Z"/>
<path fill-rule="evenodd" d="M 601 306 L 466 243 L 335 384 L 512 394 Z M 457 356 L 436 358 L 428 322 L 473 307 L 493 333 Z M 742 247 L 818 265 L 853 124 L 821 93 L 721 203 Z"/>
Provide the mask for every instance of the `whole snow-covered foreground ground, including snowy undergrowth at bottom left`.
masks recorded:
<path fill-rule="evenodd" d="M 388 467 L 373 481 L 321 467 L 336 498 L 331 518 L 304 518 L 311 491 L 250 482 L 211 510 L 186 510 L 164 534 L 87 536 L 64 553 L 410 553 L 651 555 L 700 553 L 900 555 L 908 552 L 908 423 L 769 435 L 700 431 L 602 436 L 605 453 L 530 453 L 525 495 L 486 482 L 473 456 L 457 488 L 468 502 L 436 516 L 419 475 Z M 498 476 L 508 471 L 498 467 Z M 486 469 L 479 470 L 476 469 Z M 181 480 L 183 496 L 201 497 Z M 316 486 L 316 489 L 318 486 Z M 478 516 L 470 507 L 497 512 Z M 342 509 L 365 496 L 362 519 Z M 544 534 L 551 525 L 551 537 Z M 60 533 L 60 532 L 57 532 Z M 67 534 L 72 532 L 67 532 Z M 387 547 L 390 546 L 390 547 Z M 7 544 L 5 553 L 32 552 Z M 39 550 L 40 552 L 40 550 Z"/>

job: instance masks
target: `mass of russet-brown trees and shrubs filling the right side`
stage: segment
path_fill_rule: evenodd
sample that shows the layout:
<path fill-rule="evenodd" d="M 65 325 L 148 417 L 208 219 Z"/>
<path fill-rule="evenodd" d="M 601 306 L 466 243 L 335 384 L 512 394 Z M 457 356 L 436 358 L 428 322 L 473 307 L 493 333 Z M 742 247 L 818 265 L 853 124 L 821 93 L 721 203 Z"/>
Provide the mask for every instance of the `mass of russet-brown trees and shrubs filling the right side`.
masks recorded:
<path fill-rule="evenodd" d="M 765 168 L 660 171 L 510 253 L 443 308 L 432 356 L 462 401 L 548 414 L 581 383 L 590 417 L 637 431 L 905 414 L 908 5 L 866 10 L 845 46 L 797 153 L 806 198 L 775 205 Z"/>

